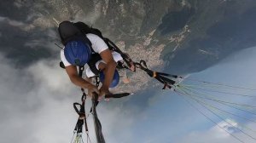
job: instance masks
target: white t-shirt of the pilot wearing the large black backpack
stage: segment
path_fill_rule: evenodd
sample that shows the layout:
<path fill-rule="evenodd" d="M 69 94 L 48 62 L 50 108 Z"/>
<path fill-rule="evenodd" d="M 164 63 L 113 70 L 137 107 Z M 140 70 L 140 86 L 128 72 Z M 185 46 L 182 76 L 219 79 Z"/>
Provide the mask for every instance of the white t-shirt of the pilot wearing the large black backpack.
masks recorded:
<path fill-rule="evenodd" d="M 108 45 L 102 40 L 101 37 L 98 37 L 95 34 L 86 34 L 86 37 L 90 40 L 91 48 L 94 52 L 100 54 L 102 51 L 108 49 Z M 65 49 L 65 48 L 64 48 Z M 64 50 L 61 50 L 61 61 L 63 62 L 64 66 L 70 66 L 71 64 L 67 61 Z"/>

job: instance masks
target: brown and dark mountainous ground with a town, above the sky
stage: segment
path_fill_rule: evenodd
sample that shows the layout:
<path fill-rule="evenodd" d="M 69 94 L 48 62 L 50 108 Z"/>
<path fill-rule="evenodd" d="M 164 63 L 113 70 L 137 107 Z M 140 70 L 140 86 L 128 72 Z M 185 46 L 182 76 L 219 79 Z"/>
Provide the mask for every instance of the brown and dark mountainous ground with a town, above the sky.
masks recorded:
<path fill-rule="evenodd" d="M 9 0 L 0 7 L 0 51 L 17 68 L 59 58 L 62 20 L 99 28 L 134 60 L 174 74 L 200 72 L 256 45 L 254 0 Z M 146 87 L 148 75 L 127 74 L 128 89 L 137 81 Z"/>

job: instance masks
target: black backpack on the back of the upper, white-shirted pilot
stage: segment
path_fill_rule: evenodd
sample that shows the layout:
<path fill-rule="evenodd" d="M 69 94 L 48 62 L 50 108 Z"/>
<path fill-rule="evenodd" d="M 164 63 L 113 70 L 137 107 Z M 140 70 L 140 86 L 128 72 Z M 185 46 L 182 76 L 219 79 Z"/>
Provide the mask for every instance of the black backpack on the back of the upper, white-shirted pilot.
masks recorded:
<path fill-rule="evenodd" d="M 61 43 L 66 46 L 67 42 L 73 41 L 73 40 L 81 40 L 84 43 L 88 43 L 91 47 L 90 40 L 88 37 L 86 37 L 86 34 L 92 33 L 97 35 L 98 37 L 101 37 L 102 40 L 108 45 L 108 49 L 113 50 L 121 54 L 122 58 L 125 60 L 126 64 L 128 66 L 130 65 L 131 59 L 124 54 L 112 41 L 110 41 L 108 38 L 102 36 L 102 31 L 92 28 L 91 26 L 86 25 L 84 22 L 70 22 L 70 21 L 63 21 L 60 23 L 58 28 L 60 37 L 61 37 Z M 93 51 L 93 49 L 91 49 Z M 98 60 L 102 60 L 102 57 L 100 54 L 97 54 L 93 51 L 93 54 L 91 55 L 91 59 L 87 63 L 88 66 L 90 66 L 90 70 L 94 72 L 96 75 L 99 74 L 99 70 L 97 70 L 95 64 Z M 61 61 L 60 66 L 62 68 L 65 68 L 63 62 Z M 127 66 L 124 66 L 123 64 L 118 63 L 119 68 L 129 68 Z"/>

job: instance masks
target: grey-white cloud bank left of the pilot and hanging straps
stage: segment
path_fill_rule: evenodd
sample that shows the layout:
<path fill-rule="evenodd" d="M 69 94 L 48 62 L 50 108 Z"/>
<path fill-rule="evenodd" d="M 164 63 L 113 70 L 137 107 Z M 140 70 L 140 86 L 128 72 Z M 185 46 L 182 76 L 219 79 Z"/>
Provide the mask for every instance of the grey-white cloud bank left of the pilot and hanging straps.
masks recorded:
<path fill-rule="evenodd" d="M 65 142 L 72 135 L 70 125 L 76 121 L 71 103 L 80 98 L 72 94 L 76 92 L 65 73 L 55 61 L 38 61 L 20 70 L 0 57 L 2 141 Z"/>

